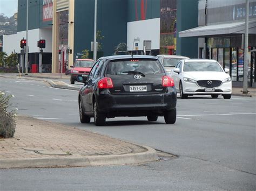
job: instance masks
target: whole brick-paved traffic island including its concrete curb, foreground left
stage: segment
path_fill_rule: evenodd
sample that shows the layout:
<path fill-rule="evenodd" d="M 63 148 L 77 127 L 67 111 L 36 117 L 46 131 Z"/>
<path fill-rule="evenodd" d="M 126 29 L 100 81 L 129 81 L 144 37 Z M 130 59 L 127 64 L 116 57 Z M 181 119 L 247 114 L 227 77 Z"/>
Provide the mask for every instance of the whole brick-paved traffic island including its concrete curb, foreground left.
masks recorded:
<path fill-rule="evenodd" d="M 150 147 L 32 117 L 18 117 L 14 138 L 0 140 L 0 168 L 121 165 L 158 159 Z"/>

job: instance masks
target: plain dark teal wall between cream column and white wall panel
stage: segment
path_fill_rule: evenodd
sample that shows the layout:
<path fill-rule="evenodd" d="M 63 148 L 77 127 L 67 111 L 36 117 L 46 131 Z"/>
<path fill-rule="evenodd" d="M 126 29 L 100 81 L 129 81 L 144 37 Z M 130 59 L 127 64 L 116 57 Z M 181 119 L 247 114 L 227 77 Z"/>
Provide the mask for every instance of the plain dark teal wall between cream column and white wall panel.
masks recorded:
<path fill-rule="evenodd" d="M 104 55 L 112 55 L 114 46 L 126 43 L 127 25 L 126 0 L 97 1 L 97 31 L 104 38 L 102 43 Z M 74 55 L 82 53 L 83 49 L 91 49 L 94 29 L 94 0 L 75 1 L 75 39 Z M 107 8 L 111 8 L 107 9 Z"/>

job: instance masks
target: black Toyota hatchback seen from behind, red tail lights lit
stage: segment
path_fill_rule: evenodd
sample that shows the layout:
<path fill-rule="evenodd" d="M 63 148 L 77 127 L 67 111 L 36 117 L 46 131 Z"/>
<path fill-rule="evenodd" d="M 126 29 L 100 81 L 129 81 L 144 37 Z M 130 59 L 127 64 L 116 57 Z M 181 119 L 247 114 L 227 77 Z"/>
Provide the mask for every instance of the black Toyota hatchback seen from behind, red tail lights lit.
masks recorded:
<path fill-rule="evenodd" d="M 167 124 L 176 122 L 176 88 L 154 56 L 106 56 L 93 65 L 79 90 L 81 123 L 104 125 L 106 118 L 146 116 L 157 121 L 164 116 Z"/>

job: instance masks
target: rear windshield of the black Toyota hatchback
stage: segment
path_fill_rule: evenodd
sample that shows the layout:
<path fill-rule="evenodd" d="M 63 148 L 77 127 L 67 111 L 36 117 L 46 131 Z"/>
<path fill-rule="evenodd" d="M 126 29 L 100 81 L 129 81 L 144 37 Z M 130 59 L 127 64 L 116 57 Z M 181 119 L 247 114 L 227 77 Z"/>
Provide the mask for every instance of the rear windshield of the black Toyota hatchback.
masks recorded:
<path fill-rule="evenodd" d="M 161 74 L 164 73 L 161 63 L 152 59 L 112 60 L 107 66 L 106 74 L 134 75 L 134 74 Z"/>

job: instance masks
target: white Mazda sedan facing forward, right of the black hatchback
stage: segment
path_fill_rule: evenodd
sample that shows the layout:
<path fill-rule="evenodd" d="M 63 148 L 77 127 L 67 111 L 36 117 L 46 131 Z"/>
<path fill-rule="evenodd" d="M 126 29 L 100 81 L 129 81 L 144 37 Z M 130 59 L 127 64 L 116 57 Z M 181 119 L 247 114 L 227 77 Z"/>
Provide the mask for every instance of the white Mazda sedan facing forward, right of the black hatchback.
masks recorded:
<path fill-rule="evenodd" d="M 229 73 L 216 60 L 186 59 L 180 60 L 171 72 L 171 77 L 180 98 L 188 95 L 211 95 L 217 98 L 223 95 L 230 99 L 232 94 L 232 80 Z"/>

